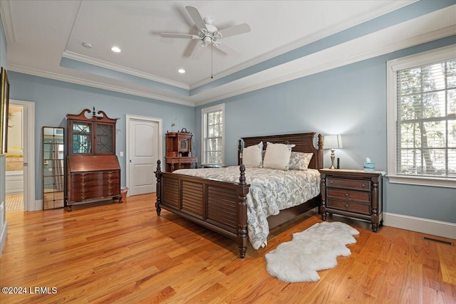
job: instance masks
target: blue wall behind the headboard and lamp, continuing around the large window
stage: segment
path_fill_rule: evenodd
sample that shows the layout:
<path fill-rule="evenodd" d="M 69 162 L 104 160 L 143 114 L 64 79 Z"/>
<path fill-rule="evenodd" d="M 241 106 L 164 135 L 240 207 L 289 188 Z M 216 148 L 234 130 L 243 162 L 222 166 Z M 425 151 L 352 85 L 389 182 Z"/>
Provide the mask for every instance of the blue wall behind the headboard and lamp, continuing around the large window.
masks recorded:
<path fill-rule="evenodd" d="M 225 103 L 225 164 L 237 164 L 239 137 L 314 131 L 343 136 L 343 149 L 336 151 L 342 168 L 362 169 L 370 157 L 386 171 L 386 62 L 455 43 L 451 36 L 217 102 Z M 196 108 L 197 142 L 201 109 L 217 103 Z M 385 179 L 384 211 L 456 223 L 456 190 Z"/>

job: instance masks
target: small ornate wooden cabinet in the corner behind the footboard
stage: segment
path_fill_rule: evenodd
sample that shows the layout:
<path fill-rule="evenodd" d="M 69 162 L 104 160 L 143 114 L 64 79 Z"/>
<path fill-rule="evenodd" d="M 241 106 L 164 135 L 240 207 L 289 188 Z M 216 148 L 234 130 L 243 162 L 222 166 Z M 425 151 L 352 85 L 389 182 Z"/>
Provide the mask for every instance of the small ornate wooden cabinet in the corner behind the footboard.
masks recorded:
<path fill-rule="evenodd" d="M 198 157 L 192 156 L 192 133 L 182 128 L 178 132 L 166 132 L 165 172 L 197 167 Z"/>

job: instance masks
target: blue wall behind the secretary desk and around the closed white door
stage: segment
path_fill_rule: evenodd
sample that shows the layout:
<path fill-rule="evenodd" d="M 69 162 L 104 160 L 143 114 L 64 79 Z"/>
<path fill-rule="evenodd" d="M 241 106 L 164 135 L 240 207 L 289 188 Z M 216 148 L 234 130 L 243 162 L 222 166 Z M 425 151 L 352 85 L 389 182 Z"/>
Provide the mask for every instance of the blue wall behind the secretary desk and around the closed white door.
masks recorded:
<path fill-rule="evenodd" d="M 35 187 L 36 199 L 42 199 L 41 142 L 42 127 L 66 127 L 67 114 L 79 114 L 83 109 L 103 110 L 108 117 L 120 117 L 116 125 L 115 150 L 125 152 L 125 114 L 157 117 L 163 120 L 163 132 L 176 120 L 176 127 L 195 125 L 195 109 L 183 105 L 115 93 L 84 85 L 9 72 L 11 99 L 35 103 Z M 163 139 L 163 149 L 165 141 Z M 165 155 L 165 150 L 163 150 Z M 125 186 L 125 157 L 119 157 L 121 184 Z"/>

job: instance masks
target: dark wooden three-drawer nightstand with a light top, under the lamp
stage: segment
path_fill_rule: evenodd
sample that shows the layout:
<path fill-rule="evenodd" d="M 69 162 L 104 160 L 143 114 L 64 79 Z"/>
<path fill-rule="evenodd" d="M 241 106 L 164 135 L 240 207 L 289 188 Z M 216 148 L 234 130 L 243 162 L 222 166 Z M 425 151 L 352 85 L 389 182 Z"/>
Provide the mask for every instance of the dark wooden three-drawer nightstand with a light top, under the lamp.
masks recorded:
<path fill-rule="evenodd" d="M 383 224 L 382 183 L 385 172 L 320 169 L 321 219 L 341 214 L 371 221 L 372 231 Z"/>

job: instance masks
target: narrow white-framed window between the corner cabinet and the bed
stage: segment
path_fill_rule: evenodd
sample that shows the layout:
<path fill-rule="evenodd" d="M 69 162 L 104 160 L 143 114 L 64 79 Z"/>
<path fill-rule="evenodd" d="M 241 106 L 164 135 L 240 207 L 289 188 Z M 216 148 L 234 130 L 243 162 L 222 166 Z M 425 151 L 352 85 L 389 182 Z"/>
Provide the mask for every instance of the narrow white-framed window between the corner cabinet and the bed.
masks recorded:
<path fill-rule="evenodd" d="M 202 164 L 223 164 L 224 104 L 202 109 Z"/>

